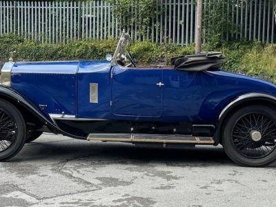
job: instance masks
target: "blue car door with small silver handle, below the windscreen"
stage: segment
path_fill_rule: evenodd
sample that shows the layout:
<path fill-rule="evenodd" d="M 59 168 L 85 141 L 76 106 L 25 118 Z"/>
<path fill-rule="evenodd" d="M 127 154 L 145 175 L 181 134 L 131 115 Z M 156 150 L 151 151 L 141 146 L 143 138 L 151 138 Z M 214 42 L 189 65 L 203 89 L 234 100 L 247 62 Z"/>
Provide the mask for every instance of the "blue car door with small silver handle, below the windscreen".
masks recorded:
<path fill-rule="evenodd" d="M 150 68 L 112 69 L 112 112 L 117 116 L 160 117 L 163 70 Z"/>

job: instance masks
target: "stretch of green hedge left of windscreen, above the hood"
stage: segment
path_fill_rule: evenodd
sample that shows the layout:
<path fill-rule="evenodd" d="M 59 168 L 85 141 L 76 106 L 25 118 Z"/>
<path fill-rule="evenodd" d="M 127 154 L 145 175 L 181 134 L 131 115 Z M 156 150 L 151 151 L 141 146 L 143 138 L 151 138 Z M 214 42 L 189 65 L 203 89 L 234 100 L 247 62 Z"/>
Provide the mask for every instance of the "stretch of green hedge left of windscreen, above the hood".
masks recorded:
<path fill-rule="evenodd" d="M 9 52 L 16 50 L 14 59 L 28 61 L 53 61 L 64 59 L 103 59 L 112 54 L 117 40 L 83 40 L 68 43 L 39 43 L 24 41 L 14 34 L 0 37 L 0 58 L 10 57 Z"/>

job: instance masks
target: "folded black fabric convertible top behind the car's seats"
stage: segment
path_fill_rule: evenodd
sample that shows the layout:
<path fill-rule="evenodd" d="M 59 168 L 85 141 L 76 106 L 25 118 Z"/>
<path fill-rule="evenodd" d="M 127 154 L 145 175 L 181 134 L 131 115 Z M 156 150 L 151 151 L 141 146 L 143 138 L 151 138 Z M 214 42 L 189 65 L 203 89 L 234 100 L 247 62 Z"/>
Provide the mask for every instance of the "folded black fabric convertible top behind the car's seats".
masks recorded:
<path fill-rule="evenodd" d="M 219 68 L 225 62 L 222 52 L 201 52 L 195 55 L 172 57 L 170 59 L 175 70 L 201 71 Z"/>

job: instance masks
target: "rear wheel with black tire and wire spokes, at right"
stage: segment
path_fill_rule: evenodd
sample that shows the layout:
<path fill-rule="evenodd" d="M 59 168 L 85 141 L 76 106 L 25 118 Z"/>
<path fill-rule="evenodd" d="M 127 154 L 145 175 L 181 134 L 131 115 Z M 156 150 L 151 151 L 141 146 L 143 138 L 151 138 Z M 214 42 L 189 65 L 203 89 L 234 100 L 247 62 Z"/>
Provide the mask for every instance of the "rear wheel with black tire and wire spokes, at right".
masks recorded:
<path fill-rule="evenodd" d="M 246 106 L 224 125 L 222 145 L 241 166 L 262 167 L 276 159 L 276 112 L 268 106 Z"/>

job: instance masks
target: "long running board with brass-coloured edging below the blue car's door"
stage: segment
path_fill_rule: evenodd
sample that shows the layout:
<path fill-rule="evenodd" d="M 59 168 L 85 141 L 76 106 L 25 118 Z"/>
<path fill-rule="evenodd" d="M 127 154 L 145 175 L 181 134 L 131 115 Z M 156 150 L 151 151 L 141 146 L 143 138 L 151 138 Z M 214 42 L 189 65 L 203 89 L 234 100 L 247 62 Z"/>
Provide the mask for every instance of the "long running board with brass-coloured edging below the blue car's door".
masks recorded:
<path fill-rule="evenodd" d="M 147 134 L 90 134 L 87 140 L 93 141 L 126 141 L 126 142 L 159 142 L 159 143 L 190 143 L 214 144 L 213 137 L 193 137 L 180 135 L 147 135 Z"/>

